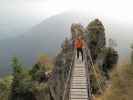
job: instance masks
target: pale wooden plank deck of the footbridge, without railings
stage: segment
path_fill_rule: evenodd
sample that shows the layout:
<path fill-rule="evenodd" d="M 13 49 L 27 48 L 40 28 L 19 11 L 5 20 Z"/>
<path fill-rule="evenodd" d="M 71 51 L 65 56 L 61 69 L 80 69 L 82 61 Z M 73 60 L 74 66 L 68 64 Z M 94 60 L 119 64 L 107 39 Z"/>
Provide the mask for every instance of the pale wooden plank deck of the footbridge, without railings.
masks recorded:
<path fill-rule="evenodd" d="M 75 57 L 69 100 L 89 100 L 85 63 Z"/>

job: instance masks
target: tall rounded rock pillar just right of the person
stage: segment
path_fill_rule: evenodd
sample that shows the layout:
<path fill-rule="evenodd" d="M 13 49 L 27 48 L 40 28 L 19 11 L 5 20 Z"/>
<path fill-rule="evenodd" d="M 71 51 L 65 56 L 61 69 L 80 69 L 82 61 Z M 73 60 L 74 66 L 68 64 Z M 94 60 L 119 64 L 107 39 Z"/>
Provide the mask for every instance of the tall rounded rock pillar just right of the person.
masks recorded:
<path fill-rule="evenodd" d="M 99 19 L 90 22 L 86 27 L 87 44 L 95 61 L 98 54 L 106 45 L 105 29 Z"/>

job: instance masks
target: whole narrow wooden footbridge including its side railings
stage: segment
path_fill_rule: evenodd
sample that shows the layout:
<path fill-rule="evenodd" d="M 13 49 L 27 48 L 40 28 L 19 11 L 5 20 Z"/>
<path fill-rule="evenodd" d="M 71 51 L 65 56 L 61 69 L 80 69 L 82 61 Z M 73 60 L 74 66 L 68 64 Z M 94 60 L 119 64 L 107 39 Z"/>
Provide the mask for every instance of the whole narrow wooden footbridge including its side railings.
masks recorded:
<path fill-rule="evenodd" d="M 91 92 L 90 70 L 92 69 L 95 76 L 97 72 L 93 64 L 89 48 L 84 48 L 84 61 L 76 57 L 76 50 L 74 52 L 73 61 L 69 70 L 69 75 L 65 83 L 65 91 L 63 100 L 94 100 Z M 99 90 L 102 92 L 99 81 Z"/>

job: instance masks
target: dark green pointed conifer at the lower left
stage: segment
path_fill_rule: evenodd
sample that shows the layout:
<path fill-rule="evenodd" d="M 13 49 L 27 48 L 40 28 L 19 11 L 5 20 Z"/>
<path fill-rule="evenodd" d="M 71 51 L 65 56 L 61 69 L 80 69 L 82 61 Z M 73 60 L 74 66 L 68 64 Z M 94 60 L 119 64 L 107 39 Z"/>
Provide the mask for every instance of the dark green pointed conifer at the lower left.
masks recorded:
<path fill-rule="evenodd" d="M 16 57 L 12 60 L 12 67 L 13 82 L 11 84 L 11 95 L 9 96 L 9 100 L 35 100 L 30 91 L 30 76 L 28 72 L 22 68 Z"/>

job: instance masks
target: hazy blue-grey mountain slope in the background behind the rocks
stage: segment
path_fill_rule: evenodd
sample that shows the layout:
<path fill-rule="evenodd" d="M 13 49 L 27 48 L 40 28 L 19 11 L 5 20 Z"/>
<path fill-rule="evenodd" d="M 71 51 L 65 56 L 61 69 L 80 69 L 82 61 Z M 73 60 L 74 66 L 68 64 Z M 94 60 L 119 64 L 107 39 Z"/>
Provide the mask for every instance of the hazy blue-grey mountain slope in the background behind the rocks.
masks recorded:
<path fill-rule="evenodd" d="M 0 40 L 0 75 L 10 72 L 13 56 L 20 58 L 26 67 L 36 63 L 40 54 L 47 53 L 54 57 L 60 50 L 64 38 L 70 35 L 71 24 L 87 25 L 92 19 L 94 18 L 82 13 L 66 12 L 45 19 L 21 36 Z M 124 25 L 117 25 L 117 22 L 100 20 L 105 25 L 107 38 L 116 40 L 121 57 L 127 56 L 133 37 L 132 30 Z"/>

